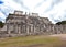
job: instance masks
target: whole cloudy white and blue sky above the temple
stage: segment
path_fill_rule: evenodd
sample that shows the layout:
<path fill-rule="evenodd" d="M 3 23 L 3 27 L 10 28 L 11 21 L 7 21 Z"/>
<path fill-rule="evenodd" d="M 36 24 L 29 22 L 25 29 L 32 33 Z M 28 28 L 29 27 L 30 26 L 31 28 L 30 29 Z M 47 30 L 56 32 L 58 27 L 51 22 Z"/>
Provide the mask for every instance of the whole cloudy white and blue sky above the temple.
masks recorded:
<path fill-rule="evenodd" d="M 0 20 L 14 10 L 35 12 L 53 23 L 66 20 L 66 0 L 0 0 Z"/>

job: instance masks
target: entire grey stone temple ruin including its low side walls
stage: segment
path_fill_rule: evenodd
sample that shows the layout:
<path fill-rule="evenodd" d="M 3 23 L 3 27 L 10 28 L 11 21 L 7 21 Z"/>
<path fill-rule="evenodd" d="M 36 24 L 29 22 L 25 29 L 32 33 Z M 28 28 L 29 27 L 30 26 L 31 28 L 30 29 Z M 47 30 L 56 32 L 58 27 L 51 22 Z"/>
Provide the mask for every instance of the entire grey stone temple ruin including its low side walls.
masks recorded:
<path fill-rule="evenodd" d="M 0 28 L 0 37 L 23 36 L 38 34 L 66 33 L 66 25 L 55 25 L 47 17 L 40 17 L 37 13 L 23 14 L 23 11 L 14 11 L 6 19 L 3 28 Z"/>

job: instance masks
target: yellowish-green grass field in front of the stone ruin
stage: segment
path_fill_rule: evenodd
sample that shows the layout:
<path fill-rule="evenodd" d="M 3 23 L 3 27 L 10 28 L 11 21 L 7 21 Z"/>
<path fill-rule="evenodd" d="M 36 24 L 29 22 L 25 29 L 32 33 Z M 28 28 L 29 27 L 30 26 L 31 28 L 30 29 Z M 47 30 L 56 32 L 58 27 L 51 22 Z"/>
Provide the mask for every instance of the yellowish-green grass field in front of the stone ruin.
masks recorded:
<path fill-rule="evenodd" d="M 58 37 L 37 35 L 2 38 L 0 39 L 0 47 L 20 47 L 37 44 L 43 44 L 45 47 L 61 47 L 61 45 L 66 45 L 65 43 L 66 42 L 61 40 Z"/>

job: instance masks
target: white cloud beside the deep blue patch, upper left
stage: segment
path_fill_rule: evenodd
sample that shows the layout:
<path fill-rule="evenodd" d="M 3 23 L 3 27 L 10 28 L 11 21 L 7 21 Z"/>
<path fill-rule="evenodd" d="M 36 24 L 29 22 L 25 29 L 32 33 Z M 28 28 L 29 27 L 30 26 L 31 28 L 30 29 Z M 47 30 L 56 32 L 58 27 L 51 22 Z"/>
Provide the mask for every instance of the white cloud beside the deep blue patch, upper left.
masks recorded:
<path fill-rule="evenodd" d="M 10 7 L 13 10 L 22 10 L 21 5 L 15 3 L 13 0 L 3 0 L 6 7 Z"/>

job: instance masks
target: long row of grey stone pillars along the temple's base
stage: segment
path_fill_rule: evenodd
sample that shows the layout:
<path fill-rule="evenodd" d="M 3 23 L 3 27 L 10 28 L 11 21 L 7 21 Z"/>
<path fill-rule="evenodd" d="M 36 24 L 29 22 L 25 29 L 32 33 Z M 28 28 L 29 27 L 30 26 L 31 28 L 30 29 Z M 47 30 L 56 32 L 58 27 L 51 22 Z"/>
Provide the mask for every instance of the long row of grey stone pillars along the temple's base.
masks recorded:
<path fill-rule="evenodd" d="M 12 28 L 12 31 L 10 31 Z M 64 30 L 65 28 L 65 30 Z M 46 34 L 59 34 L 66 33 L 66 26 L 58 25 L 38 25 L 35 26 L 33 24 L 29 25 L 18 25 L 18 24 L 8 24 L 7 25 L 8 34 L 35 34 L 35 33 L 46 33 Z"/>

